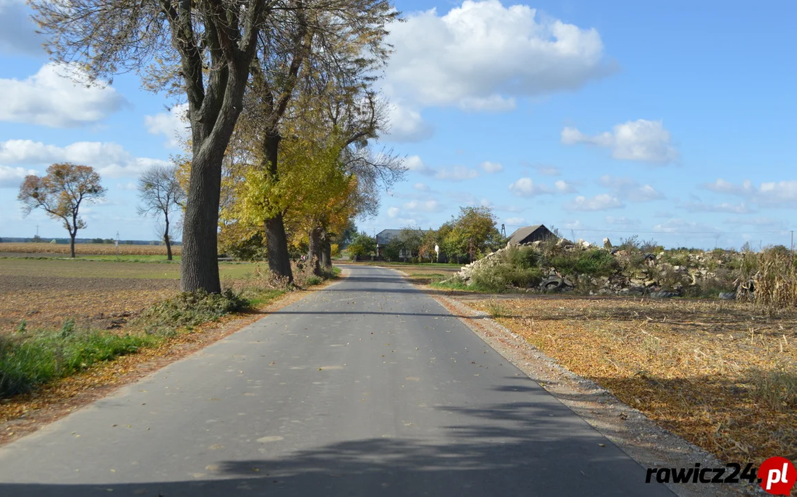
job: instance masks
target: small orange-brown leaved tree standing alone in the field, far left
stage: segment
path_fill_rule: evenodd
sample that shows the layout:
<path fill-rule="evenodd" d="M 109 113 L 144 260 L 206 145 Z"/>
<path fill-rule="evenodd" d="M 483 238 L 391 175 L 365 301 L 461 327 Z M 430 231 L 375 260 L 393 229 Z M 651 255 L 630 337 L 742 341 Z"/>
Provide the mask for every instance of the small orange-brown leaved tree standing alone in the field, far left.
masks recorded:
<path fill-rule="evenodd" d="M 74 258 L 77 230 L 86 227 L 86 221 L 79 216 L 80 204 L 96 202 L 104 196 L 100 174 L 92 167 L 63 163 L 49 166 L 44 177 L 26 176 L 17 199 L 22 202 L 26 216 L 41 208 L 49 217 L 63 221 L 69 231 L 69 252 Z"/>

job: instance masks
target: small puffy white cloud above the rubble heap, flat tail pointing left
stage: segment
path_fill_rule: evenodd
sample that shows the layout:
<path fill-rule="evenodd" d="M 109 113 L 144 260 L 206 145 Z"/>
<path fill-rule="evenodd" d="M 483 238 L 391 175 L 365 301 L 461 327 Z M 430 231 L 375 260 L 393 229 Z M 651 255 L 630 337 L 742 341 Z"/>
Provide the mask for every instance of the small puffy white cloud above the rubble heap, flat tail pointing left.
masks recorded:
<path fill-rule="evenodd" d="M 666 164 L 678 158 L 669 131 L 664 129 L 662 121 L 637 119 L 618 124 L 611 132 L 604 131 L 599 135 L 585 135 L 575 127 L 565 127 L 562 130 L 562 143 L 587 143 L 611 148 L 611 156 L 621 160 Z"/>

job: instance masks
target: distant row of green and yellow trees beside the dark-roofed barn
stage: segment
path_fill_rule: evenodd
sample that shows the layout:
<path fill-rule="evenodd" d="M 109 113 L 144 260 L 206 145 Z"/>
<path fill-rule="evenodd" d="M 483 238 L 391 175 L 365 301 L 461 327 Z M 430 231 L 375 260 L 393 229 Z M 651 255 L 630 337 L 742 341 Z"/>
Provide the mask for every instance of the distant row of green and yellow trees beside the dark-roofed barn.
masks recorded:
<path fill-rule="evenodd" d="M 505 243 L 492 209 L 461 207 L 459 215 L 452 216 L 440 229 L 402 229 L 387 245 L 379 247 L 379 254 L 385 260 L 461 263 L 477 260 Z M 367 233 L 359 233 L 348 245 L 352 258 L 368 258 L 375 256 L 376 252 L 376 241 Z"/>

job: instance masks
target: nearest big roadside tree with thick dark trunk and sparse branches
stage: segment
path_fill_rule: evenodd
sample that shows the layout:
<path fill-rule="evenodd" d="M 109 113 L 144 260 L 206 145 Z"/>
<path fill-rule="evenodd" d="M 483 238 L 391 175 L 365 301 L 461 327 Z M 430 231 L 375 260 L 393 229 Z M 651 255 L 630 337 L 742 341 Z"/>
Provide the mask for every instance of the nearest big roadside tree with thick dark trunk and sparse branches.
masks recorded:
<path fill-rule="evenodd" d="M 221 291 L 217 229 L 222 158 L 241 113 L 257 37 L 269 15 L 289 8 L 283 3 L 30 1 L 54 60 L 78 62 L 95 78 L 143 69 L 149 88 L 182 93 L 188 101 L 193 156 L 183 223 L 183 291 Z"/>

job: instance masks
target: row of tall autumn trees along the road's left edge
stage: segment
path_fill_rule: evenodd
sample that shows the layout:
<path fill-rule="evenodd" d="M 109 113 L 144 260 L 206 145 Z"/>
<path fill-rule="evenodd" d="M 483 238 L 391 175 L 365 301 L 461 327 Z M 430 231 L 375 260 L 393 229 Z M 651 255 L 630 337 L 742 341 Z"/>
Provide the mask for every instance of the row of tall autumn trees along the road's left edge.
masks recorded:
<path fill-rule="evenodd" d="M 136 71 L 145 88 L 186 102 L 189 150 L 175 175 L 184 291 L 220 292 L 220 236 L 260 237 L 269 268 L 289 280 L 291 237 L 306 237 L 312 258 L 329 264 L 331 233 L 373 212 L 377 189 L 402 177 L 401 161 L 370 147 L 386 125 L 372 87 L 390 54 L 391 2 L 30 5 L 53 60 L 93 79 Z M 100 197 L 96 185 L 89 193 Z M 80 222 L 65 221 L 70 235 Z"/>

